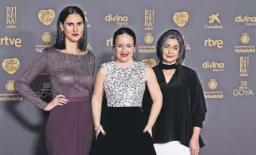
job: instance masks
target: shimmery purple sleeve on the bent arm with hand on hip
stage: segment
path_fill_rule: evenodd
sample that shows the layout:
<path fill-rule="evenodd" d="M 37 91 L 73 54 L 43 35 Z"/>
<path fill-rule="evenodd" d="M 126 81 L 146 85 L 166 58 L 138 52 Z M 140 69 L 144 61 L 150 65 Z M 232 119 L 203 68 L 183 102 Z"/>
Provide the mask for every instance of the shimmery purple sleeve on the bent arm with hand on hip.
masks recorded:
<path fill-rule="evenodd" d="M 34 61 L 20 74 L 20 77 L 15 81 L 15 89 L 30 102 L 37 105 L 39 108 L 44 109 L 47 103 L 38 97 L 33 90 L 29 87 L 29 84 L 45 70 L 47 67 L 47 50 L 43 50 L 42 53 L 37 56 Z"/>

